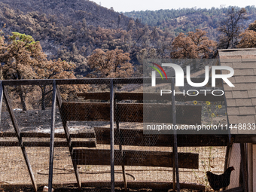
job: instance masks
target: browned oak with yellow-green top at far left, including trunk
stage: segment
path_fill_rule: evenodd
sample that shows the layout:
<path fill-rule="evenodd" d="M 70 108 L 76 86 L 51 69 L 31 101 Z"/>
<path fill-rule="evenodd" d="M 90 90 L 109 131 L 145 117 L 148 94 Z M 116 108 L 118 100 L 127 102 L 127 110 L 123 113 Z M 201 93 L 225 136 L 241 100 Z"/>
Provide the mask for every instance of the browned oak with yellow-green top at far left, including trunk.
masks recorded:
<path fill-rule="evenodd" d="M 41 50 L 38 41 L 32 36 L 13 32 L 5 43 L 1 38 L 0 60 L 2 62 L 3 78 L 5 79 L 35 79 L 37 69 L 47 62 L 46 55 Z M 20 96 L 23 110 L 26 111 L 26 95 L 32 86 L 17 86 L 13 88 Z"/>

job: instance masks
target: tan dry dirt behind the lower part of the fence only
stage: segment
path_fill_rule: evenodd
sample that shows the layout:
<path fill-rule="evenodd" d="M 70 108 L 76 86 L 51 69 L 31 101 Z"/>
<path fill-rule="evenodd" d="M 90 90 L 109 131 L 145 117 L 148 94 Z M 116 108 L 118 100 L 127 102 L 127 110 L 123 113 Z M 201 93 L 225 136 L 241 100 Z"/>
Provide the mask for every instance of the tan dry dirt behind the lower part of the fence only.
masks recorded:
<path fill-rule="evenodd" d="M 100 147 L 100 146 L 97 146 Z M 101 146 L 102 147 L 102 146 Z M 163 149 L 162 149 L 163 150 Z M 184 148 L 184 151 L 187 151 L 187 148 Z M 189 169 L 180 169 L 180 181 L 185 183 L 194 183 L 194 184 L 204 184 L 203 180 L 205 179 L 204 172 L 207 169 L 205 166 L 207 163 L 202 163 L 203 160 L 206 160 L 207 157 L 203 157 L 203 149 L 198 149 L 201 151 L 201 166 L 200 169 L 189 170 Z M 206 149 L 208 150 L 208 149 Z M 212 163 L 212 170 L 216 172 L 221 171 L 224 165 L 224 159 L 218 157 L 218 154 L 224 154 L 224 148 L 216 148 L 212 151 L 212 154 L 215 156 L 215 161 L 220 160 L 220 162 Z M 0 168 L 0 186 L 1 184 L 31 184 L 29 178 L 29 173 L 26 168 L 26 163 L 23 160 L 23 155 L 20 151 L 20 148 L 12 147 L 2 147 L 0 162 L 2 166 Z M 48 175 L 47 167 L 49 165 L 49 149 L 48 148 L 26 148 L 26 151 L 29 156 L 30 163 L 32 164 L 32 169 L 35 175 L 35 180 L 38 184 L 47 184 Z M 196 151 L 195 151 L 196 152 Z M 218 154 L 216 154 L 216 152 Z M 208 151 L 209 153 L 209 151 Z M 204 154 L 206 155 L 206 154 Z M 209 155 L 209 154 L 208 154 Z M 72 161 L 69 155 L 68 148 L 55 148 L 54 151 L 54 175 L 53 175 L 53 184 L 59 183 L 75 183 L 75 174 L 70 172 L 72 168 Z M 81 181 L 110 181 L 110 167 L 109 166 L 80 166 L 80 177 Z M 116 166 L 115 171 L 121 172 L 121 167 Z M 104 172 L 104 173 L 102 173 Z M 133 167 L 126 166 L 126 173 L 132 175 L 136 181 L 172 181 L 172 168 L 163 168 L 163 167 Z M 126 175 L 128 181 L 134 181 L 133 177 Z M 198 178 L 197 178 L 198 177 Z M 115 181 L 122 181 L 122 174 L 115 174 Z M 2 182 L 2 183 L 1 183 Z M 43 187 L 38 185 L 39 189 Z M 14 188 L 8 190 L 3 188 L 5 191 L 14 191 Z M 1 191 L 1 190 L 0 190 Z M 32 191 L 30 189 L 26 190 L 17 190 L 17 191 Z M 40 191 L 40 190 L 39 190 Z M 56 188 L 56 191 L 76 191 L 74 187 L 59 187 Z M 84 188 L 84 191 L 109 191 L 109 189 L 99 190 L 99 189 L 88 189 Z M 118 190 L 117 190 L 118 191 Z M 122 191 L 122 190 L 120 190 Z M 130 190 L 130 191 L 159 191 L 159 190 Z M 165 190 L 167 191 L 167 190 Z M 188 190 L 183 190 L 188 191 Z M 191 190 L 190 190 L 191 191 Z"/>

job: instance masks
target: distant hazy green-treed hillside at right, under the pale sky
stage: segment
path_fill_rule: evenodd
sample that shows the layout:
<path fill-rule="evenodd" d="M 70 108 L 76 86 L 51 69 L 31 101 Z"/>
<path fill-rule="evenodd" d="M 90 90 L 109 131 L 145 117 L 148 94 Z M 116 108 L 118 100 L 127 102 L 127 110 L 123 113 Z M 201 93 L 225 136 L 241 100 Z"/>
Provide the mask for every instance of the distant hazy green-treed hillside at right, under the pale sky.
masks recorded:
<path fill-rule="evenodd" d="M 248 20 L 244 26 L 256 20 L 256 8 L 247 6 Z M 158 11 L 131 11 L 123 13 L 127 17 L 138 19 L 144 24 L 157 26 L 160 29 L 169 30 L 175 36 L 180 32 L 194 32 L 196 29 L 203 29 L 209 33 L 209 38 L 216 40 L 218 35 L 218 23 L 227 18 L 230 8 L 182 8 Z"/>

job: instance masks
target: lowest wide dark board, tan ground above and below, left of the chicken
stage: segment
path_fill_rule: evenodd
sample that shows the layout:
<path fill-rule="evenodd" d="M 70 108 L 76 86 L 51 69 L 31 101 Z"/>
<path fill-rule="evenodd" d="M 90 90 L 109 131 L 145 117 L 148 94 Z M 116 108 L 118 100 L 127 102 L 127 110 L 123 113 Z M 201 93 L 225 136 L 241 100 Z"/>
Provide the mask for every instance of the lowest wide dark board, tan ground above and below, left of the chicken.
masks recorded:
<path fill-rule="evenodd" d="M 74 149 L 73 159 L 78 165 L 110 165 L 110 150 Z M 172 153 L 164 151 L 123 150 L 123 161 L 119 150 L 114 150 L 115 166 L 162 166 L 172 167 Z M 198 169 L 199 154 L 178 153 L 178 167 Z"/>

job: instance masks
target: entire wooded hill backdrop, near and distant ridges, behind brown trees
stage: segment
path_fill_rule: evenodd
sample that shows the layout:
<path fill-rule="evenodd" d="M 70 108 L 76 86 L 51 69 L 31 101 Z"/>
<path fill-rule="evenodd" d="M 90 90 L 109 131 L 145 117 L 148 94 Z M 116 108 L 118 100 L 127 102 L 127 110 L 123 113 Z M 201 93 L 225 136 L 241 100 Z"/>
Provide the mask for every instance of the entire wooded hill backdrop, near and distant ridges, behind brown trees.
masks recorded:
<path fill-rule="evenodd" d="M 256 8 L 246 7 L 248 20 L 256 20 Z M 47 59 L 60 58 L 76 65 L 78 78 L 93 69 L 88 56 L 96 49 L 120 49 L 129 53 L 136 75 L 145 58 L 169 58 L 172 42 L 180 32 L 203 29 L 209 39 L 218 36 L 218 23 L 227 17 L 227 8 L 133 11 L 117 13 L 85 0 L 0 0 L 0 29 L 31 35 L 40 41 Z M 126 15 L 126 16 L 125 16 Z M 130 18 L 132 17 L 132 18 Z M 214 56 L 214 53 L 212 53 Z"/>

